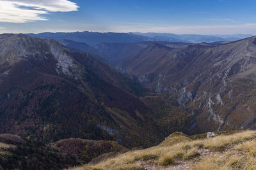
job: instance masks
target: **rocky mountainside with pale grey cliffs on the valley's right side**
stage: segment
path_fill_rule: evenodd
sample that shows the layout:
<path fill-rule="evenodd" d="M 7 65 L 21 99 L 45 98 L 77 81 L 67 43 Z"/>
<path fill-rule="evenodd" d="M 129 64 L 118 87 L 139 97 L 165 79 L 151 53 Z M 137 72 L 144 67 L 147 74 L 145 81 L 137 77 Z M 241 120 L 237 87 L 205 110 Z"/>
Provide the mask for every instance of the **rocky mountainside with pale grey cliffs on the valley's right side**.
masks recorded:
<path fill-rule="evenodd" d="M 118 65 L 176 99 L 202 131 L 255 129 L 256 37 L 173 49 L 154 43 Z"/>

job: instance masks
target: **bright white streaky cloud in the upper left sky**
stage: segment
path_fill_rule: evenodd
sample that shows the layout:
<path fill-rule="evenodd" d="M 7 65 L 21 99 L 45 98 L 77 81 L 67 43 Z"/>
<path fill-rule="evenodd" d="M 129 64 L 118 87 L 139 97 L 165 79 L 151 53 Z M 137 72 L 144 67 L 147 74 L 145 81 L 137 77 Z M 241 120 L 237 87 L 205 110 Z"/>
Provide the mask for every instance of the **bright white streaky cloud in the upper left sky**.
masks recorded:
<path fill-rule="evenodd" d="M 0 0 L 0 22 L 26 23 L 47 20 L 49 12 L 77 11 L 79 6 L 67 0 Z"/>

